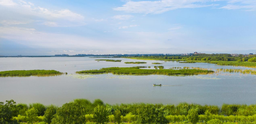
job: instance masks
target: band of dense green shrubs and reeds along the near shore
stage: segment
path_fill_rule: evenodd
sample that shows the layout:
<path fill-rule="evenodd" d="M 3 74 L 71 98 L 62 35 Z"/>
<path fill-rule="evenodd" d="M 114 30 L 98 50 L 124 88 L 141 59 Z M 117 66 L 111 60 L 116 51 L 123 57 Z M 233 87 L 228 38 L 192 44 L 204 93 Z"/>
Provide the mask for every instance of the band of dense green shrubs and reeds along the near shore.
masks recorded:
<path fill-rule="evenodd" d="M 0 123 L 40 124 L 255 124 L 256 105 L 104 104 L 100 99 L 45 106 L 40 103 L 16 104 L 14 100 L 0 102 Z"/>

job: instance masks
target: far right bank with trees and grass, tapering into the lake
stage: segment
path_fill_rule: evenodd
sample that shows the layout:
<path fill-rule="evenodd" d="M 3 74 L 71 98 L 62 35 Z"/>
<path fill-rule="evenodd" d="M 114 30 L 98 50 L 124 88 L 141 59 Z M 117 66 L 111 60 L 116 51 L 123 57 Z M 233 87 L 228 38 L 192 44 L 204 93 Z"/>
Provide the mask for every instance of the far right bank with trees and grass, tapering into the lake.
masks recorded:
<path fill-rule="evenodd" d="M 238 57 L 234 57 L 230 54 L 199 54 L 192 56 L 134 56 L 126 58 L 141 60 L 186 61 L 180 63 L 205 62 L 217 65 L 245 66 L 256 68 L 256 55 L 250 55 L 248 57 L 239 55 Z"/>

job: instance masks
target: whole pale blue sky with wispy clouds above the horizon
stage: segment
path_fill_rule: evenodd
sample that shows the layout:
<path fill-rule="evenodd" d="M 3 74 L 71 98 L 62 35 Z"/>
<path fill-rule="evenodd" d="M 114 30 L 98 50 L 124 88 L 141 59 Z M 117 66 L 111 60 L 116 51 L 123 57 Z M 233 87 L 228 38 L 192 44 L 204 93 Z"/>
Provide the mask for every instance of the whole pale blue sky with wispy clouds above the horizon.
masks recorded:
<path fill-rule="evenodd" d="M 0 0 L 0 55 L 255 53 L 256 0 Z"/>

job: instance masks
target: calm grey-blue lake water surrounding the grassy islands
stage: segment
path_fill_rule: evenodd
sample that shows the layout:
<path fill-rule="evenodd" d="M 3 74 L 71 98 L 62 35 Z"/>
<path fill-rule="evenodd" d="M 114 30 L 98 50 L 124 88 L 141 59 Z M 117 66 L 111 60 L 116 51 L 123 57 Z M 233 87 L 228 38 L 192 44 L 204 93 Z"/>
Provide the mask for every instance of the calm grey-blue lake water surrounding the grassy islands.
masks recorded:
<path fill-rule="evenodd" d="M 163 103 L 180 102 L 219 105 L 255 104 L 256 75 L 219 73 L 194 76 L 164 75 L 80 75 L 76 71 L 103 67 L 164 66 L 201 67 L 227 69 L 254 69 L 248 67 L 220 66 L 209 63 L 179 63 L 176 61 L 114 59 L 122 62 L 95 61 L 89 57 L 41 57 L 0 58 L 0 71 L 53 69 L 68 75 L 53 77 L 0 77 L 0 102 L 14 99 L 17 103 L 42 103 L 61 106 L 76 98 L 91 101 L 101 99 L 104 103 Z M 147 62 L 125 64 L 124 62 Z M 154 65 L 152 62 L 163 64 Z M 154 87 L 153 84 L 163 84 Z"/>

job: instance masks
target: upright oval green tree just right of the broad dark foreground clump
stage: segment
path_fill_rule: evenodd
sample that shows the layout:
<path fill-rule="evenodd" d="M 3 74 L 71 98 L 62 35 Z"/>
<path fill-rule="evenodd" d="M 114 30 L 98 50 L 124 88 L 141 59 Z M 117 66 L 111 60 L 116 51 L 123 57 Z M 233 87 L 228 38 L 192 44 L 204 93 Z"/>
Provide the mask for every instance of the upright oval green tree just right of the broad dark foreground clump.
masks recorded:
<path fill-rule="evenodd" d="M 96 124 L 104 124 L 108 122 L 108 111 L 104 106 L 98 105 L 94 108 L 94 120 Z"/>

